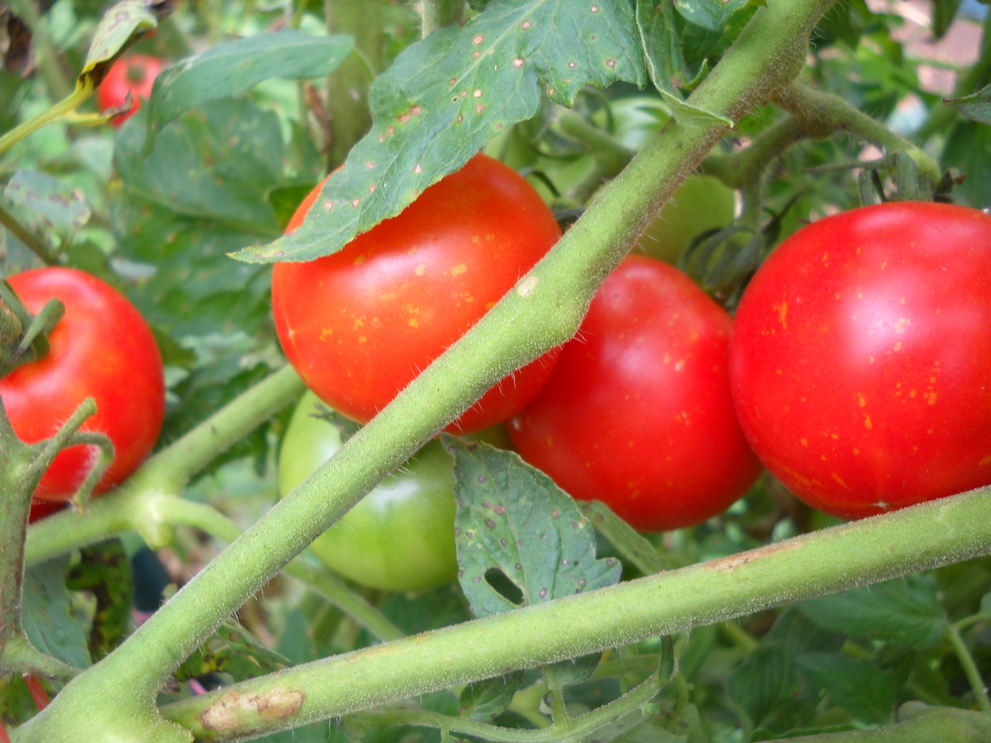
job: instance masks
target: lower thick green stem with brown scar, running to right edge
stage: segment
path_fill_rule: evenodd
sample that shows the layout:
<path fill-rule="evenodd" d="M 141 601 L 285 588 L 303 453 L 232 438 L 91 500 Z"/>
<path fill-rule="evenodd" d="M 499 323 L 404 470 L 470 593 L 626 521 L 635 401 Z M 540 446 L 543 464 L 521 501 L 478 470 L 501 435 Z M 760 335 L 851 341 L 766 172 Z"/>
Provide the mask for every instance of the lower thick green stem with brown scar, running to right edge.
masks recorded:
<path fill-rule="evenodd" d="M 297 666 L 184 699 L 162 711 L 203 740 L 232 740 L 248 731 L 347 714 L 988 554 L 989 508 L 991 488 L 973 490 L 710 563 Z M 217 722 L 232 699 L 279 694 L 300 700 L 293 714 L 266 720 L 257 708 L 242 705 L 236 725 L 224 729 Z"/>

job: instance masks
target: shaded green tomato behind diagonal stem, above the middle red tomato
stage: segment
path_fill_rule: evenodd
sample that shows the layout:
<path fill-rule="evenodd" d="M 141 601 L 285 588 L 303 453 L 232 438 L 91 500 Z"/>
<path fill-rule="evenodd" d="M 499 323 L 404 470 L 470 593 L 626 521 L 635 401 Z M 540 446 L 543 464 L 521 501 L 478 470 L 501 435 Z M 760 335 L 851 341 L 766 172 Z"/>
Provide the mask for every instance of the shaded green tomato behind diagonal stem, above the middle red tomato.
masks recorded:
<path fill-rule="evenodd" d="M 731 189 L 712 175 L 689 175 L 668 199 L 637 245 L 651 258 L 673 264 L 692 238 L 733 221 Z"/>

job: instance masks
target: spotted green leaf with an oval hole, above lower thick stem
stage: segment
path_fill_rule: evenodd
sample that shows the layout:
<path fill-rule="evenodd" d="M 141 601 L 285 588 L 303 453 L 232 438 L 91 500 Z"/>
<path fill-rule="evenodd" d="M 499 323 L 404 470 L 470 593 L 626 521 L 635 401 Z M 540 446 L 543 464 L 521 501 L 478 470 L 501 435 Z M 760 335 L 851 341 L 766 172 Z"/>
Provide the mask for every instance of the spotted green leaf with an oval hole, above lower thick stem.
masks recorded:
<path fill-rule="evenodd" d="M 523 605 L 619 581 L 622 566 L 596 559 L 592 524 L 551 478 L 488 444 L 441 441 L 455 458 L 458 580 L 476 616 L 516 608 L 499 580 Z"/>

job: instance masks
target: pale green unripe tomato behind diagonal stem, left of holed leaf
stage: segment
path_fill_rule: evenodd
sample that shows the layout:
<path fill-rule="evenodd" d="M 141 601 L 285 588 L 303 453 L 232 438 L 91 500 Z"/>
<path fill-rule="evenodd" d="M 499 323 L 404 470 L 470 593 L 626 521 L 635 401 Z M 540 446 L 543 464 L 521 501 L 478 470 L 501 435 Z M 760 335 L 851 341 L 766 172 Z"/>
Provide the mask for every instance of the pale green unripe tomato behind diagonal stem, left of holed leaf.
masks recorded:
<path fill-rule="evenodd" d="M 327 407 L 307 391 L 292 414 L 278 456 L 282 495 L 341 448 Z M 317 415 L 314 415 L 317 414 Z M 342 576 L 386 590 L 423 590 L 458 575 L 454 548 L 454 463 L 431 441 L 310 545 Z"/>

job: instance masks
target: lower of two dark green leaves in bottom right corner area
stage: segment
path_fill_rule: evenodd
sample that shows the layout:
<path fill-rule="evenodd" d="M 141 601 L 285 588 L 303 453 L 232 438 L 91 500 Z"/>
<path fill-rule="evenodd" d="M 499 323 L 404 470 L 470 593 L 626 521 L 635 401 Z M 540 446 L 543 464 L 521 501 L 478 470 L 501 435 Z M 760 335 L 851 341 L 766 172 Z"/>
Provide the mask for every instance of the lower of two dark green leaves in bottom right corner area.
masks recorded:
<path fill-rule="evenodd" d="M 867 658 L 806 653 L 798 667 L 832 700 L 861 722 L 890 722 L 895 711 L 895 674 Z"/>

